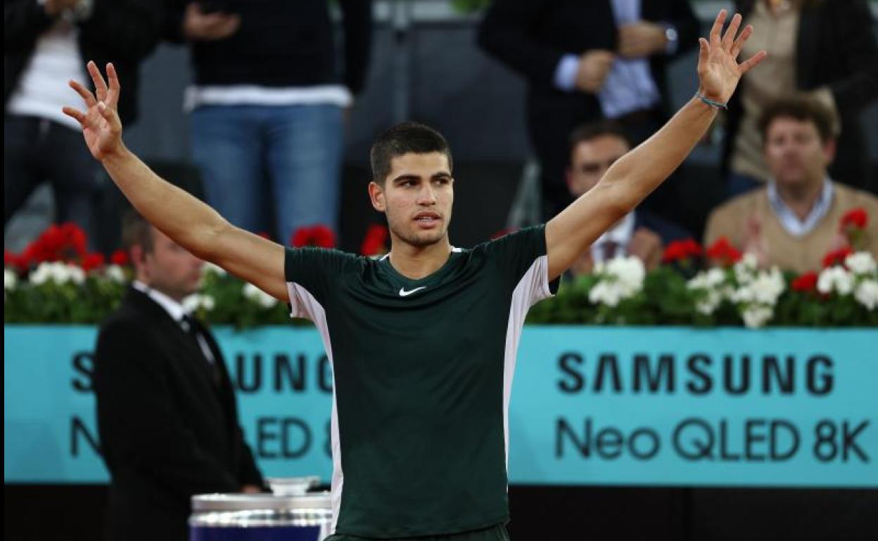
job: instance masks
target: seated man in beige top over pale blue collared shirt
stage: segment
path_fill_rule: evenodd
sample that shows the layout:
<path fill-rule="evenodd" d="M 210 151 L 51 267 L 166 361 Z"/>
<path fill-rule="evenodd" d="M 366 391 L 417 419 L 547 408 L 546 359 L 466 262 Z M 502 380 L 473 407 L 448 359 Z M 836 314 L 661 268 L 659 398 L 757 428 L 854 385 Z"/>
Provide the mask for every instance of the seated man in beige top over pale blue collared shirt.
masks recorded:
<path fill-rule="evenodd" d="M 766 188 L 714 210 L 705 245 L 726 237 L 741 251 L 756 254 L 763 266 L 799 273 L 818 270 L 827 252 L 848 244 L 841 217 L 860 208 L 867 212 L 866 231 L 852 248 L 878 256 L 878 198 L 826 175 L 835 154 L 832 122 L 829 110 L 805 98 L 767 107 L 759 127 L 773 178 Z"/>

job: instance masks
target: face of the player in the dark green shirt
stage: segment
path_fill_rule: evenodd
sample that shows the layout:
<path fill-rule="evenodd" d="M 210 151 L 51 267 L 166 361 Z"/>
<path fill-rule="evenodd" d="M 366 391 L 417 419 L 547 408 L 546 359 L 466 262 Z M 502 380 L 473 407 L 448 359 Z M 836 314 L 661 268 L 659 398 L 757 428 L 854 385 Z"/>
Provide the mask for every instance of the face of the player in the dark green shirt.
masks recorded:
<path fill-rule="evenodd" d="M 448 235 L 454 179 L 443 153 L 407 153 L 391 160 L 384 186 L 370 185 L 372 206 L 384 212 L 393 238 L 431 246 Z"/>

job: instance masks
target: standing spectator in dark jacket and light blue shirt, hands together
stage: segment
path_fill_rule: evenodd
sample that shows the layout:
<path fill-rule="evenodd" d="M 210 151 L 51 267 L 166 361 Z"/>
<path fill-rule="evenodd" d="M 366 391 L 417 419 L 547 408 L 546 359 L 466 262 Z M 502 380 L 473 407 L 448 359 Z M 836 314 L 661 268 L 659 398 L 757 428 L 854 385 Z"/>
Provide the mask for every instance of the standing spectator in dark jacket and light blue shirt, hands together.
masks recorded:
<path fill-rule="evenodd" d="M 636 145 L 656 132 L 667 117 L 667 60 L 697 45 L 698 31 L 687 0 L 494 0 L 479 45 L 528 80 L 546 218 L 571 201 L 567 134 L 603 117 Z"/>

